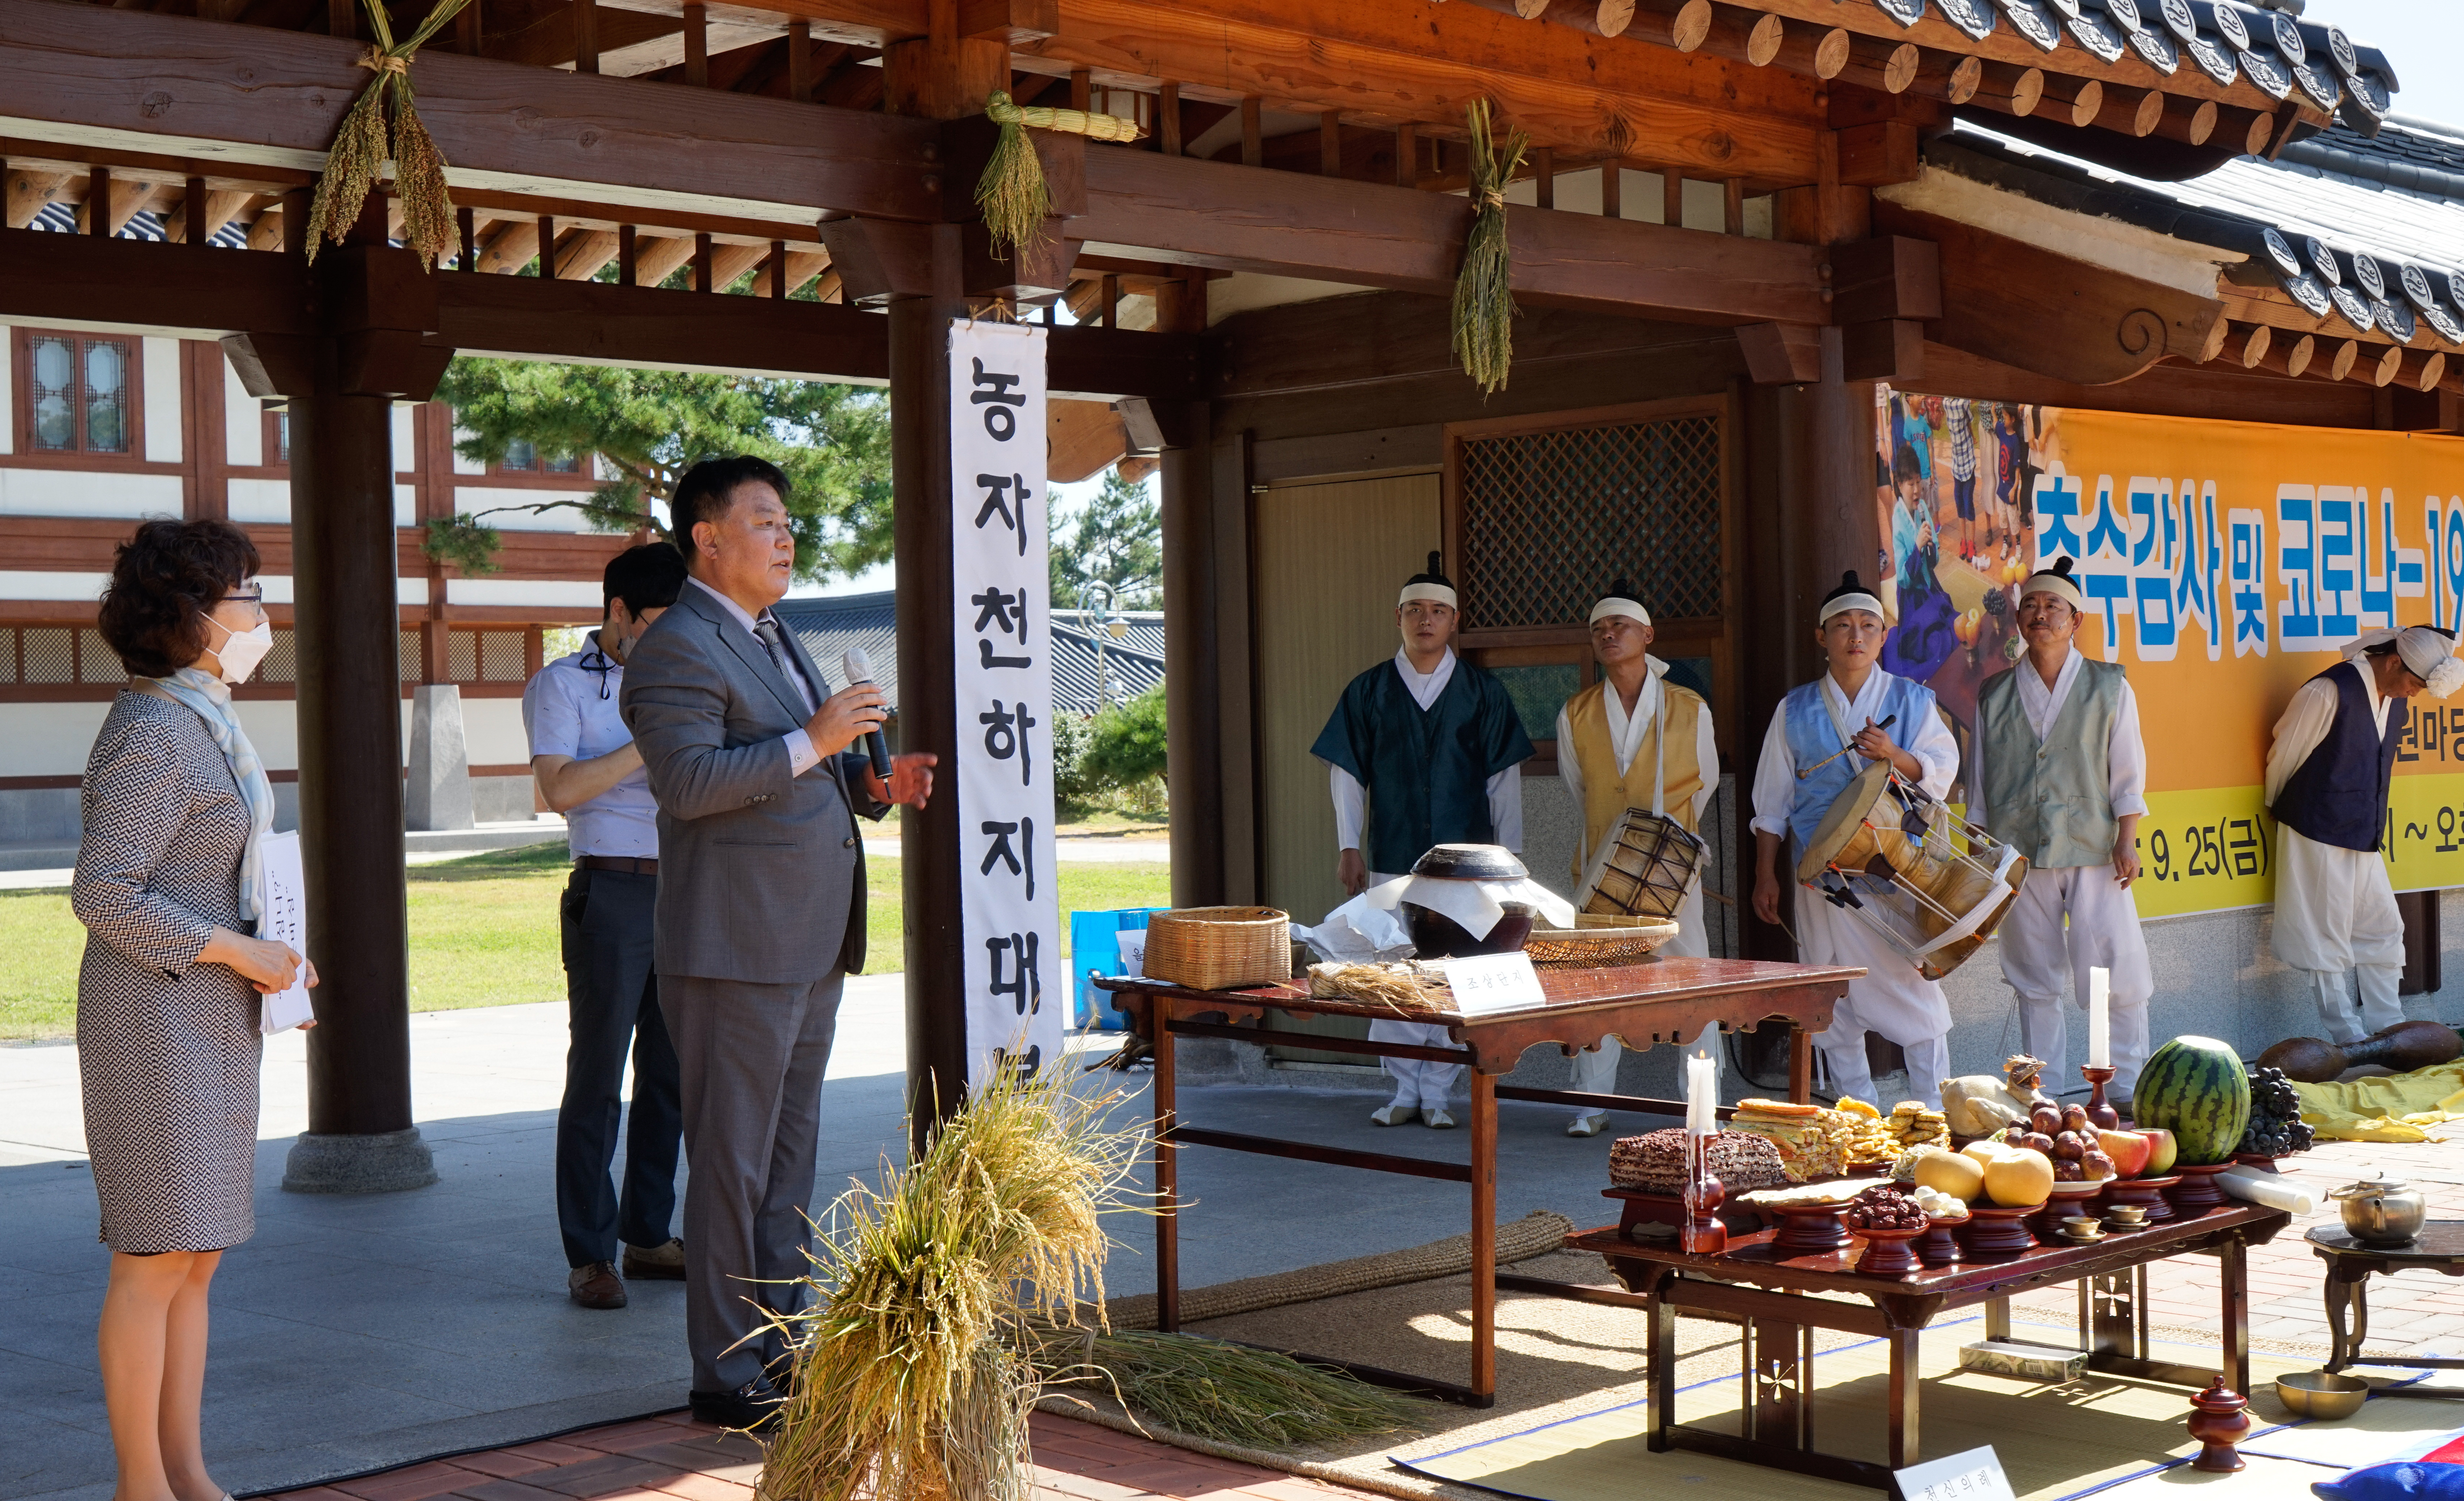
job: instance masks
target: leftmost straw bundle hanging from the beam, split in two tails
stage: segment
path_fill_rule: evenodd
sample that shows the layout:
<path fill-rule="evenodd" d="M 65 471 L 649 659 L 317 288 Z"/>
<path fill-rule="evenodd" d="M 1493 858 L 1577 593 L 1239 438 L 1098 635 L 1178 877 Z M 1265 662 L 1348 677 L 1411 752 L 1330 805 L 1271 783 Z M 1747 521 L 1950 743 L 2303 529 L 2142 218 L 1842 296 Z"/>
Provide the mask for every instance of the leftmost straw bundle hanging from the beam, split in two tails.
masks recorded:
<path fill-rule="evenodd" d="M 419 123 L 419 106 L 411 96 L 411 54 L 468 0 L 439 0 L 419 30 L 402 42 L 394 42 L 394 22 L 379 0 L 360 2 L 377 30 L 377 44 L 360 54 L 360 67 L 377 76 L 342 116 L 342 128 L 335 131 L 333 150 L 325 155 L 325 170 L 315 180 L 315 200 L 308 205 L 308 261 L 315 261 L 323 242 L 342 244 L 350 227 L 360 222 L 360 207 L 377 185 L 377 173 L 392 155 L 394 192 L 402 197 L 402 244 L 419 256 L 419 269 L 426 271 L 453 244 L 453 195 L 446 190 L 446 158 L 436 150 L 429 128 Z M 392 150 L 384 140 L 387 99 L 392 99 L 394 123 Z"/>

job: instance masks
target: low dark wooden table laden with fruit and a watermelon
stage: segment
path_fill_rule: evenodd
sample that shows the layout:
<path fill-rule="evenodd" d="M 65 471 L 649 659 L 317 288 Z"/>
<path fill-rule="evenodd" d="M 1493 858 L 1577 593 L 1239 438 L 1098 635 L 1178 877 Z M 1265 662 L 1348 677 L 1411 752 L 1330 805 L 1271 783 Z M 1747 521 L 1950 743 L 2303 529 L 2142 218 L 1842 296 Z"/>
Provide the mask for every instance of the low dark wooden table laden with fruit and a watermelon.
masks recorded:
<path fill-rule="evenodd" d="M 1676 1242 L 1651 1245 L 1614 1227 L 1587 1230 L 1567 1250 L 1592 1250 L 1616 1277 L 1641 1294 L 1604 1292 L 1641 1306 L 1651 1319 L 1651 1373 L 1646 1388 L 1648 1444 L 1653 1452 L 1695 1449 L 1745 1464 L 1794 1469 L 1855 1486 L 1892 1489 L 1890 1471 L 1907 1469 L 1917 1449 L 1917 1336 L 1956 1309 L 1984 1304 L 1984 1338 L 2011 1341 L 2011 1296 L 2053 1282 L 2080 1284 L 2080 1343 L 2048 1346 L 2087 1351 L 2087 1365 L 2112 1375 L 2136 1375 L 2205 1388 L 2223 1373 L 2232 1390 L 2250 1390 L 2250 1282 L 2245 1252 L 2274 1240 L 2292 1215 L 2227 1200 L 2195 1220 L 2161 1220 L 2146 1230 L 2107 1235 L 2097 1245 L 2040 1245 L 2006 1262 L 1919 1267 L 1907 1277 L 1865 1277 L 1855 1259 L 1863 1240 L 1831 1255 L 1786 1255 L 1772 1247 L 1772 1230 L 1730 1235 L 1720 1255 L 1688 1255 Z M 2220 1262 L 2218 1296 L 2225 1316 L 2215 1365 L 2181 1365 L 2149 1358 L 2146 1267 L 2166 1257 L 2208 1252 Z M 1823 1294 L 1848 1294 L 1846 1301 Z M 1737 1432 L 1688 1427 L 1676 1420 L 1678 1311 L 1735 1319 L 1742 1328 L 1745 1390 Z M 1814 1331 L 1838 1328 L 1890 1341 L 1890 1462 L 1848 1459 L 1816 1449 L 1814 1437 Z M 2045 1341 L 2013 1341 L 2045 1343 Z M 1969 1447 L 1969 1444 L 1961 1444 Z"/>

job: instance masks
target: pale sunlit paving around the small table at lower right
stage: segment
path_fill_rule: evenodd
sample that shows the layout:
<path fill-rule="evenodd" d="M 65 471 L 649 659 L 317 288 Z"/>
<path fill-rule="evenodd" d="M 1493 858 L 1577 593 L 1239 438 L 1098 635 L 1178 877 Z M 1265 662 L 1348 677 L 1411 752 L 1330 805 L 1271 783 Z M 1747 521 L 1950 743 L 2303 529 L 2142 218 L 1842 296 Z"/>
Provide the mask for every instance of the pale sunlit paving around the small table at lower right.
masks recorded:
<path fill-rule="evenodd" d="M 2464 1136 L 2464 1131 L 2459 1131 Z M 2326 1262 L 2311 1255 L 2301 1232 L 2311 1225 L 2336 1225 L 2328 1188 L 2341 1188 L 2365 1171 L 2402 1178 L 2430 1193 L 2430 1218 L 2464 1220 L 2464 1139 L 2432 1144 L 2321 1141 L 2316 1149 L 2284 1158 L 2284 1171 L 2321 1190 L 2316 1215 L 2296 1218 L 2269 1245 L 2250 1250 L 2250 1338 L 2301 1346 L 2326 1353 L 2326 1306 L 2321 1301 Z M 2072 1316 L 2072 1289 L 2053 1296 L 2020 1299 L 2023 1309 Z M 2215 1262 L 2178 1257 L 2149 1267 L 2149 1324 L 2178 1331 L 2220 1331 L 2223 1306 L 2215 1292 Z M 2397 1272 L 2370 1279 L 2368 1351 L 2400 1356 L 2422 1346 L 2439 1353 L 2464 1353 L 2464 1279 L 2437 1272 Z"/>

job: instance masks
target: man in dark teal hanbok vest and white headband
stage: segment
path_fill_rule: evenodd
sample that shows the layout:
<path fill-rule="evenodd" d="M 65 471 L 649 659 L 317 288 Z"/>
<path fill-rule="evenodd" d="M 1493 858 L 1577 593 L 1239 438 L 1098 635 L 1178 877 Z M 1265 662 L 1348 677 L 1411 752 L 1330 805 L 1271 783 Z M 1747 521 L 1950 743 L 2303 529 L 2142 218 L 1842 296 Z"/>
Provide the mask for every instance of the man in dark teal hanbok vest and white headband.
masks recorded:
<path fill-rule="evenodd" d="M 1506 845 L 1523 853 L 1523 734 L 1506 685 L 1454 656 L 1456 594 L 1429 555 L 1395 601 L 1402 648 L 1343 690 L 1318 742 L 1335 799 L 1335 877 L 1360 895 L 1400 880 L 1441 843 Z M 1363 801 L 1365 821 L 1363 821 Z M 1363 843 L 1363 838 L 1368 843 Z M 1446 1028 L 1372 1020 L 1372 1043 L 1449 1045 Z M 1370 1114 L 1380 1126 L 1451 1126 L 1446 1094 L 1461 1065 L 1417 1057 L 1382 1060 L 1395 1075 L 1392 1104 Z"/>

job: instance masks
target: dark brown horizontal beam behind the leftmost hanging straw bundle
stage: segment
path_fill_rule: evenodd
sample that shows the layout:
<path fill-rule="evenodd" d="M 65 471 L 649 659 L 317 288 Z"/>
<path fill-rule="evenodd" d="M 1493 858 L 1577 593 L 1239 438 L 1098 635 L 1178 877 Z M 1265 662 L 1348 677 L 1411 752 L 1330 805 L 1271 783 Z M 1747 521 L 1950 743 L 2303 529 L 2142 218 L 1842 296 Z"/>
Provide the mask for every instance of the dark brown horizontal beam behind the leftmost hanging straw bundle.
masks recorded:
<path fill-rule="evenodd" d="M 0 0 L 0 133 L 315 170 L 367 84 L 365 47 L 180 15 Z M 145 89 L 126 79 L 143 76 Z M 939 217 L 931 121 L 542 74 L 451 52 L 411 69 L 456 187 L 636 212 Z M 522 128 L 505 128 L 520 118 Z"/>

